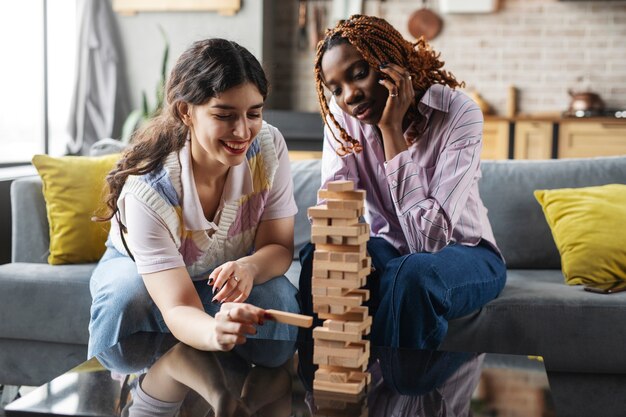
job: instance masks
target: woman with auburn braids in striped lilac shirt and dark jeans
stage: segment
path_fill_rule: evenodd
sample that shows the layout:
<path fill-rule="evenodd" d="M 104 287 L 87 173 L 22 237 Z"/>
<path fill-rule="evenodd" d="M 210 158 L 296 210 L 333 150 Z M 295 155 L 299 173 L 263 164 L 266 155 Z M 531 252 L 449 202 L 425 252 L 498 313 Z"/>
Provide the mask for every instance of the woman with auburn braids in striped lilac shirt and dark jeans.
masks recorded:
<path fill-rule="evenodd" d="M 483 116 L 439 56 L 363 15 L 340 21 L 317 46 L 322 188 L 352 180 L 367 192 L 378 345 L 436 349 L 449 320 L 481 308 L 506 281 L 478 192 Z M 309 314 L 313 250 L 300 253 Z"/>

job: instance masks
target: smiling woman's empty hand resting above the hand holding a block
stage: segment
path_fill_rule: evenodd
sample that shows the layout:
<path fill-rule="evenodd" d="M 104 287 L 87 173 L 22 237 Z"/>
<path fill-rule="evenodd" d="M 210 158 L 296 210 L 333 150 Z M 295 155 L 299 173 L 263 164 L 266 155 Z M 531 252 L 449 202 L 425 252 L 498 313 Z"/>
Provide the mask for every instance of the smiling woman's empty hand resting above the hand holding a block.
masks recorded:
<path fill-rule="evenodd" d="M 213 285 L 213 302 L 242 303 L 248 299 L 254 285 L 252 265 L 241 261 L 226 262 L 209 275 Z"/>

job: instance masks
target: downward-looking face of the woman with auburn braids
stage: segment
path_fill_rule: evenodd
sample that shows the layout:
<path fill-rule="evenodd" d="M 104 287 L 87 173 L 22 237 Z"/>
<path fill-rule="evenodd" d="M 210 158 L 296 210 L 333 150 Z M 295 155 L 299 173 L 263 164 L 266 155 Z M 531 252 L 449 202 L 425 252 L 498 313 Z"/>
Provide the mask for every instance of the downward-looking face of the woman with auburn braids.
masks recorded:
<path fill-rule="evenodd" d="M 341 43 L 327 50 L 321 69 L 324 84 L 343 111 L 363 123 L 378 123 L 389 92 L 378 82 L 380 73 L 354 46 Z"/>

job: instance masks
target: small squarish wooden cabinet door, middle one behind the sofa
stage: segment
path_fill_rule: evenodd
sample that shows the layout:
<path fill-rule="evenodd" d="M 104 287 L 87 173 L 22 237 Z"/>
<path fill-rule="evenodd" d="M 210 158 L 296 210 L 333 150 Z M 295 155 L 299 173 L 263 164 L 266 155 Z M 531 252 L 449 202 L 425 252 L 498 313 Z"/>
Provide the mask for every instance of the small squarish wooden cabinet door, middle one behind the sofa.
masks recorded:
<path fill-rule="evenodd" d="M 515 122 L 513 157 L 515 159 L 552 158 L 554 123 L 521 120 Z"/>

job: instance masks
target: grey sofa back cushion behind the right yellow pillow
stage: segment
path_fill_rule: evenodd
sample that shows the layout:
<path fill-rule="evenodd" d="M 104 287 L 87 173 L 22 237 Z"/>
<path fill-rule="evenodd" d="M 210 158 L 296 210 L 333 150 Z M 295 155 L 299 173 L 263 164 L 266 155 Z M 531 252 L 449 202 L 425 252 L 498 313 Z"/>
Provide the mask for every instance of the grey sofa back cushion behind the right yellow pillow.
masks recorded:
<path fill-rule="evenodd" d="M 544 161 L 484 161 L 480 195 L 509 268 L 560 268 L 537 189 L 626 184 L 626 156 Z"/>

